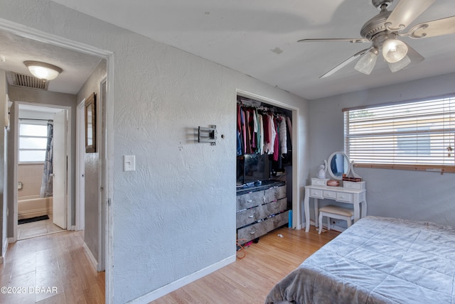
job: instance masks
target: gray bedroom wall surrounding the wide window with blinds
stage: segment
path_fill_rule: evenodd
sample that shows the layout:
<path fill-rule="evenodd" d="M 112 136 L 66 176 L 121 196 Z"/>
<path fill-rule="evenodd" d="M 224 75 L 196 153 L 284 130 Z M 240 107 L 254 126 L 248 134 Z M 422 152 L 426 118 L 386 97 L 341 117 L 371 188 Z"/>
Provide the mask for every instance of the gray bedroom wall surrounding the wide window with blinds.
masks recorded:
<path fill-rule="evenodd" d="M 338 95 L 310 102 L 310 163 L 308 178 L 333 151 L 343 151 L 341 109 L 367 104 L 398 102 L 455 93 L 455 73 L 402 85 Z M 356 168 L 367 187 L 368 215 L 400 217 L 440 224 L 455 223 L 455 175 Z M 327 202 L 323 202 L 325 204 Z M 312 214 L 313 212 L 311 212 Z"/>

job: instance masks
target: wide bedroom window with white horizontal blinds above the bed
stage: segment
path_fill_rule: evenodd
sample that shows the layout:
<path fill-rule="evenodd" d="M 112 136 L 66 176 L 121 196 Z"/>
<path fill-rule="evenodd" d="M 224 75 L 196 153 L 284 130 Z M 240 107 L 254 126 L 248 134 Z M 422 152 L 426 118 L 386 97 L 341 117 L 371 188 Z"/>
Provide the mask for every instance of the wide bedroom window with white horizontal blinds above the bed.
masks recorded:
<path fill-rule="evenodd" d="M 455 97 L 343 111 L 358 166 L 455 172 Z"/>

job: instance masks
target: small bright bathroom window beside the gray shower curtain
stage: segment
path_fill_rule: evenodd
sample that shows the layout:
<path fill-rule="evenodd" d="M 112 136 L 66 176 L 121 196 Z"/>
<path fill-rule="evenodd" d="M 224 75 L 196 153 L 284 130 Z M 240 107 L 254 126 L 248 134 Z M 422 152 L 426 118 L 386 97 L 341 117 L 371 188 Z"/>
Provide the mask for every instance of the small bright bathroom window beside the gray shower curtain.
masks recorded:
<path fill-rule="evenodd" d="M 48 143 L 48 126 L 45 124 L 19 124 L 19 163 L 45 161 Z"/>

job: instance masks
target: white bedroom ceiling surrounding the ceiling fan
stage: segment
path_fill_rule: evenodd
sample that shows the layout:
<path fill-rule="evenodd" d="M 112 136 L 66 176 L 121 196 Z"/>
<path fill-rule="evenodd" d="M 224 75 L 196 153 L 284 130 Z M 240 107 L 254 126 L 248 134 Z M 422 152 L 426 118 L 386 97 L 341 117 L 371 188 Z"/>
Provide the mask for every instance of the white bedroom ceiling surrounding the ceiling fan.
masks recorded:
<path fill-rule="evenodd" d="M 405 70 L 392 73 L 385 63 L 378 60 L 375 70 L 366 76 L 353 69 L 353 62 L 336 74 L 319 79 L 320 75 L 370 44 L 296 41 L 303 38 L 360 38 L 363 24 L 379 13 L 370 0 L 55 2 L 212 60 L 306 99 L 455 72 L 455 35 L 452 34 L 420 40 L 403 38 L 425 58 L 423 63 Z M 397 2 L 395 0 L 389 10 Z M 454 15 L 454 0 L 437 0 L 412 25 Z M 2 40 L 0 38 L 0 46 Z M 58 63 L 64 65 L 65 60 Z M 55 85 L 57 80 L 53 80 Z M 61 80 L 63 82 L 63 77 Z"/>

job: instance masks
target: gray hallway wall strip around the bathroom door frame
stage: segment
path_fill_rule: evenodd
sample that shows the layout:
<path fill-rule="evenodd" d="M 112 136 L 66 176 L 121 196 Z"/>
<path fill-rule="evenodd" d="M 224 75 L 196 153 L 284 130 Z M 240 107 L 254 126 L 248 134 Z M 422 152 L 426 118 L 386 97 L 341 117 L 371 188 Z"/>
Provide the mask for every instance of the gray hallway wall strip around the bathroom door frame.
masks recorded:
<path fill-rule="evenodd" d="M 69 200 L 72 208 L 73 218 L 71 219 L 71 224 L 75 224 L 75 147 L 76 147 L 76 95 L 73 94 L 63 94 L 63 93 L 55 93 L 55 92 L 47 92 L 40 89 L 29 89 L 26 87 L 16 87 L 9 85 L 9 99 L 11 102 L 31 102 L 35 104 L 52 104 L 55 106 L 65 106 L 71 108 L 71 139 L 70 140 L 70 149 L 71 149 L 71 161 L 69 165 L 71 166 L 71 170 L 73 172 L 73 178 L 71 179 L 72 183 L 72 191 L 69 194 Z M 11 134 L 9 139 L 9 148 L 8 148 L 8 156 L 9 156 L 9 163 L 14 163 L 14 129 L 16 128 L 16 120 L 14 114 L 14 104 L 11 106 Z M 13 180 L 13 169 L 9 170 L 8 175 L 9 180 Z M 14 185 L 9 185 L 9 219 L 8 219 L 8 237 L 13 237 L 13 229 L 14 229 L 14 200 L 13 200 L 13 191 L 16 191 Z"/>

